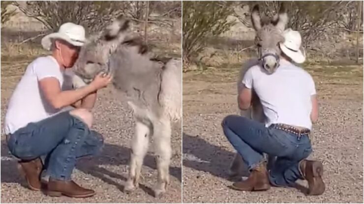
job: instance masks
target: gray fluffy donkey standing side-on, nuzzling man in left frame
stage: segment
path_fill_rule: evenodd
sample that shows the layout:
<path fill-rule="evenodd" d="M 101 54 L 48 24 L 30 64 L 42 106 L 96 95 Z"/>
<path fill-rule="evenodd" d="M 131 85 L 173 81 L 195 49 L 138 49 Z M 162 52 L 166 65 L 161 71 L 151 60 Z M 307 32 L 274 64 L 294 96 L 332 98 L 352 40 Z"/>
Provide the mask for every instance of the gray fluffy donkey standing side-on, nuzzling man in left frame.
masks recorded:
<path fill-rule="evenodd" d="M 171 123 L 182 117 L 182 61 L 151 59 L 147 46 L 128 31 L 128 20 L 116 20 L 82 47 L 73 71 L 74 87 L 91 82 L 100 72 L 112 73 L 119 100 L 133 110 L 129 175 L 124 191 L 138 187 L 143 159 L 153 136 L 158 178 L 155 196 L 169 183 Z"/>

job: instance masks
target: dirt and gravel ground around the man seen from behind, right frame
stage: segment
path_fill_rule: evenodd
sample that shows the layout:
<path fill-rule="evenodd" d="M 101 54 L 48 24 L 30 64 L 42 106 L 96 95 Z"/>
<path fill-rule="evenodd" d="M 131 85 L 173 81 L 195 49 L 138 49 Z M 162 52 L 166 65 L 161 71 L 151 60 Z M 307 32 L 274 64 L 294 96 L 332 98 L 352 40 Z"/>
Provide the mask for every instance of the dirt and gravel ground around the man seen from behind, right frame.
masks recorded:
<path fill-rule="evenodd" d="M 220 124 L 226 115 L 238 114 L 239 68 L 211 68 L 183 74 L 183 203 L 363 203 L 363 66 L 305 67 L 316 82 L 320 105 L 309 158 L 324 164 L 324 194 L 305 196 L 304 188 L 228 188 L 235 151 Z"/>

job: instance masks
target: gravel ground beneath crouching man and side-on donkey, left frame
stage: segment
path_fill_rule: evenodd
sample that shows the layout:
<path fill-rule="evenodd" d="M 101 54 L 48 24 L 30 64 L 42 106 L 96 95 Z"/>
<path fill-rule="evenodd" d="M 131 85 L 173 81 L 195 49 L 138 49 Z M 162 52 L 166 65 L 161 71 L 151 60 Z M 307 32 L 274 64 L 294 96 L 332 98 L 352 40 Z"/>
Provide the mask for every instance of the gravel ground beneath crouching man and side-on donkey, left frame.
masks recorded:
<path fill-rule="evenodd" d="M 18 79 L 1 76 L 1 122 Z M 151 190 L 157 176 L 152 145 L 144 160 L 140 188 L 129 195 L 122 192 L 127 177 L 129 141 L 134 132 L 131 109 L 126 103 L 114 99 L 110 88 L 107 88 L 99 92 L 93 111 L 94 129 L 104 135 L 105 146 L 101 155 L 79 160 L 73 178 L 80 185 L 94 189 L 97 194 L 86 199 L 53 198 L 25 188 L 25 180 L 16 169 L 16 160 L 8 153 L 2 133 L 1 203 L 181 203 L 181 123 L 175 124 L 173 129 L 171 182 L 167 193 L 157 199 L 152 196 Z"/>

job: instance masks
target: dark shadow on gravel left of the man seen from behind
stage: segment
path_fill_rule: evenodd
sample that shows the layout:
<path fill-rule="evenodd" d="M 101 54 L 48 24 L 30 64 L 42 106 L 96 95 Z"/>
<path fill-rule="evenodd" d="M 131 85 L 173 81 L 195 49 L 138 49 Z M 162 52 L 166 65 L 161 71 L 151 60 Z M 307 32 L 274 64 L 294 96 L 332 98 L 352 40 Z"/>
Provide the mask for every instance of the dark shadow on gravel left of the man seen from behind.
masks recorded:
<path fill-rule="evenodd" d="M 230 179 L 228 169 L 234 153 L 212 145 L 198 135 L 191 136 L 186 133 L 182 135 L 183 166 Z"/>

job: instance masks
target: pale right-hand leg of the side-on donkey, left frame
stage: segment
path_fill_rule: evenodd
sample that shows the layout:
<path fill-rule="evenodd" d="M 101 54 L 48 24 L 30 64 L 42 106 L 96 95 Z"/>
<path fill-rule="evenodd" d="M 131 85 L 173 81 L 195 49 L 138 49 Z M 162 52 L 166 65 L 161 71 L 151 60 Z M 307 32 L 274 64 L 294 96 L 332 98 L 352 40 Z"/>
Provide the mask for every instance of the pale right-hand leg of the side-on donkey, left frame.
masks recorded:
<path fill-rule="evenodd" d="M 155 197 L 161 197 L 169 183 L 169 164 L 172 155 L 171 132 L 169 120 L 162 119 L 154 124 L 153 139 L 158 171 L 157 185 L 154 188 Z"/>

